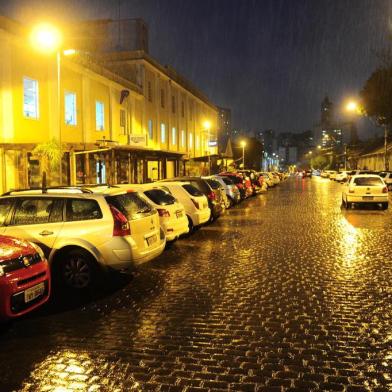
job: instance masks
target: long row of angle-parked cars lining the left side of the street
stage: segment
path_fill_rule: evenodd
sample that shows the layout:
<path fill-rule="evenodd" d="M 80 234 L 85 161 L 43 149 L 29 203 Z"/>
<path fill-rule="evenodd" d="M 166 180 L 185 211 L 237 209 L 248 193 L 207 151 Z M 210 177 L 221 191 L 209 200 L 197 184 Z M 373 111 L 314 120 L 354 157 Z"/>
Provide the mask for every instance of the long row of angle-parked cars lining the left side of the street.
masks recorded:
<path fill-rule="evenodd" d="M 51 282 L 83 292 L 95 288 L 105 270 L 132 271 L 284 178 L 242 170 L 7 192 L 0 197 L 0 318 L 45 303 Z"/>

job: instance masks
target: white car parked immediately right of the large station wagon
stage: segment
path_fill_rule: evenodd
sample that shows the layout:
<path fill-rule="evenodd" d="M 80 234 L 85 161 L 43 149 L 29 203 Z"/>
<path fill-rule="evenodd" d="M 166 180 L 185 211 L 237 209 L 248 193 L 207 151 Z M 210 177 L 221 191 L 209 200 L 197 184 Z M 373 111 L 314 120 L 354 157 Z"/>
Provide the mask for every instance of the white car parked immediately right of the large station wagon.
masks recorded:
<path fill-rule="evenodd" d="M 161 185 L 151 183 L 119 184 L 116 186 L 138 192 L 158 211 L 161 228 L 167 241 L 175 241 L 181 235 L 189 232 L 184 206 Z"/>

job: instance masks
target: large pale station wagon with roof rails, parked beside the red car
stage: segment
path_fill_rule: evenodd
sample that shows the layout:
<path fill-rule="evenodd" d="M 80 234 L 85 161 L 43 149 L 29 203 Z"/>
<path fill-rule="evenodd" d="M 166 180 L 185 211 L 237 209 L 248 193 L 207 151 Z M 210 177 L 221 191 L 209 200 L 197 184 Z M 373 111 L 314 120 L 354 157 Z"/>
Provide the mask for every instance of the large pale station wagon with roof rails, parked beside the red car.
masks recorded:
<path fill-rule="evenodd" d="M 128 271 L 162 253 L 158 212 L 136 192 L 96 187 L 8 192 L 0 234 L 37 243 L 62 286 L 84 290 L 105 269 Z"/>

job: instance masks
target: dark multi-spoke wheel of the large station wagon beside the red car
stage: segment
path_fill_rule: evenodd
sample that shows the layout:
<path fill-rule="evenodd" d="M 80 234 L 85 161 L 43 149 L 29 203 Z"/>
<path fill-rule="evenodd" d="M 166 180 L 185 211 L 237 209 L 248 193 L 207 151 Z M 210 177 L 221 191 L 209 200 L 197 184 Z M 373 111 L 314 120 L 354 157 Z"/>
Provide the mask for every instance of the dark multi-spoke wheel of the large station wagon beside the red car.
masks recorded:
<path fill-rule="evenodd" d="M 97 283 L 97 263 L 83 249 L 73 249 L 64 253 L 57 267 L 57 278 L 63 287 L 82 291 L 93 287 Z"/>

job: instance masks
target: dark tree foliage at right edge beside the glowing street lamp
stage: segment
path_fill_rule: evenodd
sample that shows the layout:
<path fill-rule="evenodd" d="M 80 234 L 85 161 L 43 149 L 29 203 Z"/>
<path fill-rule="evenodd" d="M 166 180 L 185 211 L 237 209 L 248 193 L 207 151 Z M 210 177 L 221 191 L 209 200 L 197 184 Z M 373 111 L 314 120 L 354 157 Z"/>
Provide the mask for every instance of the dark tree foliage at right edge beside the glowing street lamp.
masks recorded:
<path fill-rule="evenodd" d="M 374 71 L 360 95 L 367 116 L 379 125 L 392 125 L 392 66 Z"/>

